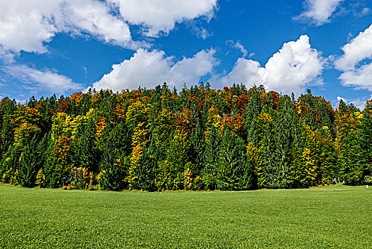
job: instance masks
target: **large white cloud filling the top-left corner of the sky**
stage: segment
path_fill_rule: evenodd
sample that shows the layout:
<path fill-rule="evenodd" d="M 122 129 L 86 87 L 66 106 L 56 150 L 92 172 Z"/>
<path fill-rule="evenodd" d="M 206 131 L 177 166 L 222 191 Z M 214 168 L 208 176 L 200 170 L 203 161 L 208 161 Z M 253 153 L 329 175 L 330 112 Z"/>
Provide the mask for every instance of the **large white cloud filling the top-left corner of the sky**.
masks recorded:
<path fill-rule="evenodd" d="M 128 24 L 96 0 L 0 0 L 0 44 L 4 50 L 45 53 L 55 33 L 87 32 L 121 46 L 131 41 Z"/>

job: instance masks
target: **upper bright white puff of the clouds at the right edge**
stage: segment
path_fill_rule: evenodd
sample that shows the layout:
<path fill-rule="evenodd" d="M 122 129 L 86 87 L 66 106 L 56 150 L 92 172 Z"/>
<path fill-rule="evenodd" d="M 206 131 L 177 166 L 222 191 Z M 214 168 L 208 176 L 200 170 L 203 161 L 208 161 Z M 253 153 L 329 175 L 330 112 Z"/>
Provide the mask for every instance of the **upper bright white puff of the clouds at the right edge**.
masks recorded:
<path fill-rule="evenodd" d="M 334 62 L 339 70 L 353 69 L 364 58 L 372 58 L 372 25 L 341 49 L 344 55 Z"/>

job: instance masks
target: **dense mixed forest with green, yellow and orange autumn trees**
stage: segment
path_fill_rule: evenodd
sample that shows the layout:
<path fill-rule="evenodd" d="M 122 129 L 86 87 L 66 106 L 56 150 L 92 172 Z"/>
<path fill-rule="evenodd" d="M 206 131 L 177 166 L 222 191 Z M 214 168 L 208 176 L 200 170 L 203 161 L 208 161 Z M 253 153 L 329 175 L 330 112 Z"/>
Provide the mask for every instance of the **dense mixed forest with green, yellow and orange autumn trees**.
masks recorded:
<path fill-rule="evenodd" d="M 262 85 L 89 90 L 0 102 L 0 182 L 121 191 L 372 184 L 372 100 Z"/>

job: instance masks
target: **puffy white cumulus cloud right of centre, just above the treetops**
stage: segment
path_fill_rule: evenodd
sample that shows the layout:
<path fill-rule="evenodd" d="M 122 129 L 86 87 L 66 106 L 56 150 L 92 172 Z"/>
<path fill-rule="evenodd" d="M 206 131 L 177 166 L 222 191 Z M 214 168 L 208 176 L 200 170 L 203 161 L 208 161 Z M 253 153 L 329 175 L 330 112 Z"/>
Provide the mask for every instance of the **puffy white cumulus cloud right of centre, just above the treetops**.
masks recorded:
<path fill-rule="evenodd" d="M 220 85 L 244 83 L 248 87 L 262 84 L 270 90 L 300 94 L 305 87 L 322 83 L 319 75 L 323 64 L 318 51 L 311 48 L 309 37 L 300 36 L 297 41 L 284 43 L 265 67 L 257 61 L 239 58 L 233 70 L 217 82 Z"/>

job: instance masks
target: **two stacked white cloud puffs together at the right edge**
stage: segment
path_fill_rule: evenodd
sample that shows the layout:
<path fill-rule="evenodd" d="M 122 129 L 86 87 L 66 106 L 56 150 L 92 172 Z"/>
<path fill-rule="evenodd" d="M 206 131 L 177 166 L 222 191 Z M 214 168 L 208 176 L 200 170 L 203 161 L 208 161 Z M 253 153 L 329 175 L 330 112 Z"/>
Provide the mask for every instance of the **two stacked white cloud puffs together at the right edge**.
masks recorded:
<path fill-rule="evenodd" d="M 372 25 L 341 49 L 344 55 L 334 61 L 335 68 L 343 72 L 339 77 L 341 84 L 372 91 L 372 63 L 360 65 L 372 58 Z"/>

